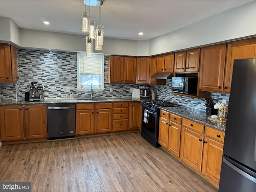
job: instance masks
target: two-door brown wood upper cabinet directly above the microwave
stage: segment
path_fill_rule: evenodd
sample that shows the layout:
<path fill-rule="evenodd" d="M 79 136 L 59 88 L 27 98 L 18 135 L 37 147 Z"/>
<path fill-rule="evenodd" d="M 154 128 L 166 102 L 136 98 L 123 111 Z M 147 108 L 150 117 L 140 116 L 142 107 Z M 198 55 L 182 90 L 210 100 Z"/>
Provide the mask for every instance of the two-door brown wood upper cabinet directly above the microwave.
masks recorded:
<path fill-rule="evenodd" d="M 198 72 L 200 48 L 175 53 L 174 72 Z"/>

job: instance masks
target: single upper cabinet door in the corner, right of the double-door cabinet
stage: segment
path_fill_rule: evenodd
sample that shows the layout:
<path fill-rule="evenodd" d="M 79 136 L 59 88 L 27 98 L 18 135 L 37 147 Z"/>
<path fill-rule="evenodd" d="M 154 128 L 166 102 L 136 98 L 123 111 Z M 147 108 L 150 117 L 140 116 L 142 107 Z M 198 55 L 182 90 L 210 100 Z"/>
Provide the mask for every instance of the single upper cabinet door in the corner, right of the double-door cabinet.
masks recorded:
<path fill-rule="evenodd" d="M 137 65 L 137 83 L 149 84 L 149 57 L 139 57 Z"/>

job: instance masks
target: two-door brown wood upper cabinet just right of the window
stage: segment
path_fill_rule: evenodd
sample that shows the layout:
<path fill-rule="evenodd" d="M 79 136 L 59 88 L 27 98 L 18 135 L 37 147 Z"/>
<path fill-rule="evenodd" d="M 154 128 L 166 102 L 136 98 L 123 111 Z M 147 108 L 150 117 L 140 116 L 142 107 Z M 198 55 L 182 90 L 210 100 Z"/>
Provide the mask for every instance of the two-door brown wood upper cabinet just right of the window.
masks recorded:
<path fill-rule="evenodd" d="M 136 57 L 108 57 L 108 83 L 136 83 Z"/>

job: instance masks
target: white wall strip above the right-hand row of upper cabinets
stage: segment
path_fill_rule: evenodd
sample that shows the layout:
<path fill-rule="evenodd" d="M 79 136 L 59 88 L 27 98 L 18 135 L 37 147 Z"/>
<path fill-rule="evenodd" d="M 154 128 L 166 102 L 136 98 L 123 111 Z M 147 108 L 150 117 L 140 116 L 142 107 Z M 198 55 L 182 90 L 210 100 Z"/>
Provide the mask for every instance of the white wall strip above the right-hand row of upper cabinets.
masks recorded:
<path fill-rule="evenodd" d="M 256 35 L 256 2 L 228 10 L 150 40 L 149 55 L 156 55 L 230 39 Z"/>

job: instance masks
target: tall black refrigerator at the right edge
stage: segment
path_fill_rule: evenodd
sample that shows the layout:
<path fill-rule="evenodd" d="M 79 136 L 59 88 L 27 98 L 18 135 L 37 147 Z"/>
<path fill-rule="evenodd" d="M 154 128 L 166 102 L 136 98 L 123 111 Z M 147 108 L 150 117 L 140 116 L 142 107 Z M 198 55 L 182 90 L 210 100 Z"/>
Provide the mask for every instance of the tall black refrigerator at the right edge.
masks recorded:
<path fill-rule="evenodd" d="M 256 58 L 234 60 L 219 191 L 256 191 Z"/>

